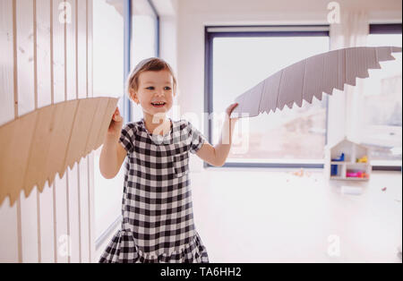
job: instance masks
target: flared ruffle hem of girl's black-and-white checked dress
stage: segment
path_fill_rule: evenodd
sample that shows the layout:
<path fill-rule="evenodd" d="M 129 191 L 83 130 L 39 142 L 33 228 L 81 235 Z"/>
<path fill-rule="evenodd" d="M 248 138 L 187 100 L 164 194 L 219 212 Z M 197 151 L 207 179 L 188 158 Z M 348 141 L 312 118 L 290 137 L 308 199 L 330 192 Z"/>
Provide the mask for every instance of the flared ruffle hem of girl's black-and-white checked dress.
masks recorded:
<path fill-rule="evenodd" d="M 159 256 L 141 251 L 130 231 L 119 230 L 107 245 L 99 262 L 102 263 L 208 263 L 206 247 L 197 232 L 190 243 Z"/>

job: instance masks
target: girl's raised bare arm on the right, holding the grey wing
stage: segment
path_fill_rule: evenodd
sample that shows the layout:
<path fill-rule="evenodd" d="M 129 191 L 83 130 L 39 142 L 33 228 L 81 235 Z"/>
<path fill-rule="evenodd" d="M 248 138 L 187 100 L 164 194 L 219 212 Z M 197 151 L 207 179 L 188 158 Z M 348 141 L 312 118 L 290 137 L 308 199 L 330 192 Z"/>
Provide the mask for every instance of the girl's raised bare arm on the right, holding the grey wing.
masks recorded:
<path fill-rule="evenodd" d="M 213 147 L 206 141 L 201 146 L 201 149 L 196 152 L 196 155 L 199 158 L 212 166 L 223 166 L 226 163 L 232 145 L 232 135 L 234 133 L 236 121 L 238 121 L 238 118 L 229 118 L 229 116 L 237 105 L 238 104 L 235 103 L 227 107 L 227 115 L 222 127 L 219 143 Z"/>

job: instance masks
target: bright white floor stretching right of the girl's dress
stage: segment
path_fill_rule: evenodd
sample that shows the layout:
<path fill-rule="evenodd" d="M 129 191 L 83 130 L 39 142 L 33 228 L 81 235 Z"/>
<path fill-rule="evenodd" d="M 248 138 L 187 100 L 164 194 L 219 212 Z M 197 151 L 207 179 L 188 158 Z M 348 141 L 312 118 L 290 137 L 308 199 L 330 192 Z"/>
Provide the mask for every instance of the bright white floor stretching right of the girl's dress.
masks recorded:
<path fill-rule="evenodd" d="M 298 171 L 191 173 L 195 224 L 210 262 L 401 262 L 401 173 L 329 183 L 322 171 Z M 342 194 L 346 184 L 362 184 L 363 194 Z"/>

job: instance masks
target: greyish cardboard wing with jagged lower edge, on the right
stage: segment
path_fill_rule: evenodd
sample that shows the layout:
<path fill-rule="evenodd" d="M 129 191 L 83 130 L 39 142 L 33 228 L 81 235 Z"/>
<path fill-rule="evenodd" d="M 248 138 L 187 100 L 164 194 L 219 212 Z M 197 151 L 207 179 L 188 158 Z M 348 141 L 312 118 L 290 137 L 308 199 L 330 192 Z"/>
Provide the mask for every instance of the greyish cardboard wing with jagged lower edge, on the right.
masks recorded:
<path fill-rule="evenodd" d="M 380 62 L 394 60 L 392 53 L 401 53 L 401 47 L 348 47 L 313 55 L 236 97 L 239 105 L 231 118 L 269 114 L 294 104 L 301 107 L 303 100 L 312 103 L 313 97 L 322 100 L 323 93 L 332 95 L 333 89 L 344 90 L 345 84 L 356 86 L 356 78 L 369 77 L 369 69 L 380 69 Z"/>

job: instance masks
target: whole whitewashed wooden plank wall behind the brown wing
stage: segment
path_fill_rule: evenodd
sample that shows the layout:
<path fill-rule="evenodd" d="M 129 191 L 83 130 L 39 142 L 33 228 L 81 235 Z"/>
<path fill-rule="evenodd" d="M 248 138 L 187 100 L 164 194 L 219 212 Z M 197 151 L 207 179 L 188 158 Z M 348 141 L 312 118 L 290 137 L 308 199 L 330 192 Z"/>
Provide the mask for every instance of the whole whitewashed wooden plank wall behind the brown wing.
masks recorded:
<path fill-rule="evenodd" d="M 92 4 L 0 1 L 0 125 L 66 99 L 93 97 Z M 92 261 L 93 165 L 90 154 L 42 193 L 35 187 L 25 198 L 22 192 L 13 207 L 4 200 L 0 261 Z"/>

